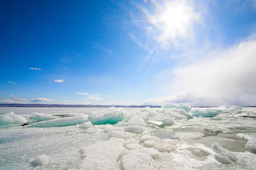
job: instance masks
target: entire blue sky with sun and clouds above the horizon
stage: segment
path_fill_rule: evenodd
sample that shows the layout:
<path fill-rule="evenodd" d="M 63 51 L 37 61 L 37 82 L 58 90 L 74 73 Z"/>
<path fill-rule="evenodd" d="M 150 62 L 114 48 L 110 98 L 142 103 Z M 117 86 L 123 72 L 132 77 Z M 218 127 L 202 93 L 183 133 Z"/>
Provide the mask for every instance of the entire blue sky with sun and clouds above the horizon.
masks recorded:
<path fill-rule="evenodd" d="M 0 103 L 256 103 L 255 0 L 4 1 L 0 14 Z"/>

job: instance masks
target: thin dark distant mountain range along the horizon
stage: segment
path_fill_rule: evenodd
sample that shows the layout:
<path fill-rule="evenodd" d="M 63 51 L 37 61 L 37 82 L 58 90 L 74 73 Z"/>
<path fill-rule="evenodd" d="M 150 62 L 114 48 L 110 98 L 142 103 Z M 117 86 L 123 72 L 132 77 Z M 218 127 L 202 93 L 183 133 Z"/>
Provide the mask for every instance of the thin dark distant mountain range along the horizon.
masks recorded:
<path fill-rule="evenodd" d="M 161 106 L 151 105 L 57 105 L 57 104 L 0 104 L 0 107 L 21 107 L 21 108 L 109 108 L 109 107 L 122 107 L 122 108 L 160 108 Z"/>

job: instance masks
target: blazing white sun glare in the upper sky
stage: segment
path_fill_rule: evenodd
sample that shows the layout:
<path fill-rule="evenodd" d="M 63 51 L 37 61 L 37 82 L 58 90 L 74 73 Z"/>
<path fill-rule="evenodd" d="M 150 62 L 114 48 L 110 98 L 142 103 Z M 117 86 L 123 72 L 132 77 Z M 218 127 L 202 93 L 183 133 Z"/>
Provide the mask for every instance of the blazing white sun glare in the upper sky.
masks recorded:
<path fill-rule="evenodd" d="M 197 18 L 193 4 L 186 0 L 165 0 L 163 4 L 155 3 L 156 11 L 149 20 L 159 32 L 159 42 L 176 42 L 186 40 L 192 34 L 192 24 Z"/>

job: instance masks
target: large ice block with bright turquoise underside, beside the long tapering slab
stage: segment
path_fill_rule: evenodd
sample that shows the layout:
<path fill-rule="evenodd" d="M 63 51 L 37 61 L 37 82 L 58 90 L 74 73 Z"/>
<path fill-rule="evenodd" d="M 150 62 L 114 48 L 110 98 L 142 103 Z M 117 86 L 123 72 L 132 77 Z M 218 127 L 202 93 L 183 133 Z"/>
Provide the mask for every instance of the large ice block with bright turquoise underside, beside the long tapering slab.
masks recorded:
<path fill-rule="evenodd" d="M 89 121 L 94 125 L 116 124 L 125 119 L 126 113 L 123 108 L 108 108 L 103 111 L 94 111 L 89 116 Z"/>

